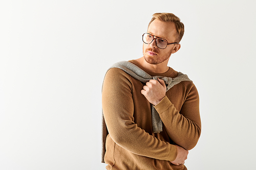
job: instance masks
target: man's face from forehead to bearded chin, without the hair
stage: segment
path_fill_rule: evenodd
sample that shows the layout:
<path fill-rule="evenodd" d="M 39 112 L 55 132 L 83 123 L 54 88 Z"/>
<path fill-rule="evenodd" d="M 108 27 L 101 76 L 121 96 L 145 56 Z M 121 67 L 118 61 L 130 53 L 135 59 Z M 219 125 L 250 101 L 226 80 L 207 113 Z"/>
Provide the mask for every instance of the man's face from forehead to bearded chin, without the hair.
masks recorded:
<path fill-rule="evenodd" d="M 173 22 L 166 23 L 158 19 L 151 22 L 147 29 L 147 33 L 155 35 L 157 37 L 164 38 L 168 43 L 175 42 L 176 29 Z M 159 64 L 169 59 L 174 51 L 176 44 L 167 45 L 165 49 L 158 48 L 156 40 L 153 40 L 150 44 L 143 43 L 143 56 L 147 63 Z"/>

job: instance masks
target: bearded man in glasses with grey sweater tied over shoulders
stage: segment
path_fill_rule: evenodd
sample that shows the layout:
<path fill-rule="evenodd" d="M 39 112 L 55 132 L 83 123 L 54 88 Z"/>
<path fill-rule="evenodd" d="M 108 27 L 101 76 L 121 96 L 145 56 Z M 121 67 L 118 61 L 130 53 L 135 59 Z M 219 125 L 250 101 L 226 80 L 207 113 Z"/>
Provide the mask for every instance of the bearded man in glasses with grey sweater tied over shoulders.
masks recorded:
<path fill-rule="evenodd" d="M 102 88 L 106 169 L 187 169 L 188 150 L 201 134 L 199 95 L 186 75 L 167 66 L 183 34 L 177 16 L 156 13 L 142 37 L 143 57 L 107 71 Z M 145 74 L 153 79 L 142 82 Z"/>

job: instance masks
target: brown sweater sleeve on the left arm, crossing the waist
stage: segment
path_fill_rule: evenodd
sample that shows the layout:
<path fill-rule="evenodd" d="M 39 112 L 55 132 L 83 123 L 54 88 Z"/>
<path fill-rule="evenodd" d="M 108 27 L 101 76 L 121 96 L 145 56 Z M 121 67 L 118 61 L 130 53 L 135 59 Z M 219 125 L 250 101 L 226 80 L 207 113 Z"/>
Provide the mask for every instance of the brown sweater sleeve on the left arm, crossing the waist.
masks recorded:
<path fill-rule="evenodd" d="M 134 154 L 173 161 L 177 147 L 146 133 L 134 123 L 133 84 L 131 76 L 119 68 L 105 75 L 102 110 L 110 137 L 120 147 Z"/>

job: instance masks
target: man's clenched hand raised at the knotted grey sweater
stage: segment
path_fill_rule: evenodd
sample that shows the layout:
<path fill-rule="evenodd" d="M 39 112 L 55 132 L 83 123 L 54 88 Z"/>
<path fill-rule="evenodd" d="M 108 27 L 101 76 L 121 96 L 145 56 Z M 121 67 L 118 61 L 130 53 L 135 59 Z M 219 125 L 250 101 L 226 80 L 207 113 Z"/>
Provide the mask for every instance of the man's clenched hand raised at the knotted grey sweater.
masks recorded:
<path fill-rule="evenodd" d="M 157 105 L 165 96 L 166 86 L 163 80 L 150 80 L 143 86 L 141 94 L 145 96 L 148 102 Z"/>

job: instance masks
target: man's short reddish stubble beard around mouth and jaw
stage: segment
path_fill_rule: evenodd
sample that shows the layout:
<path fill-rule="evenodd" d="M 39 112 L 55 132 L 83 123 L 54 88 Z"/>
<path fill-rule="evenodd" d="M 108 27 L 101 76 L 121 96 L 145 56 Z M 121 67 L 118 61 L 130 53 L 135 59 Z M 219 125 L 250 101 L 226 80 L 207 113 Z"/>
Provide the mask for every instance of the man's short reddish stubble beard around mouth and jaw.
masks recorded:
<path fill-rule="evenodd" d="M 152 51 L 152 52 L 156 53 L 157 55 L 150 56 L 147 54 L 147 51 Z M 160 63 L 166 61 L 170 57 L 171 54 L 172 54 L 172 50 L 169 51 L 169 53 L 164 54 L 163 56 L 159 56 L 159 52 L 156 49 L 151 48 L 151 47 L 146 48 L 143 51 L 143 57 L 144 57 L 145 61 L 149 64 L 154 64 L 154 65 L 160 64 Z"/>

